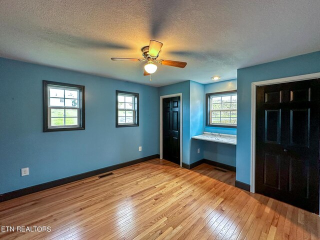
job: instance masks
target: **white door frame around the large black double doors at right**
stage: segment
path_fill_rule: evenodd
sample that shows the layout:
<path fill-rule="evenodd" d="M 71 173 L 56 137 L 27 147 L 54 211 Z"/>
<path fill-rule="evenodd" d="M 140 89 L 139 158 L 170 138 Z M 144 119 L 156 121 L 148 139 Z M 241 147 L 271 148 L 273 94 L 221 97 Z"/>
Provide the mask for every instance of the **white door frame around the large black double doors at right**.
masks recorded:
<path fill-rule="evenodd" d="M 289 76 L 264 81 L 251 82 L 251 171 L 250 171 L 250 192 L 255 192 L 255 113 L 256 113 L 256 88 L 258 86 L 271 85 L 284 82 L 303 81 L 319 78 L 320 72 Z M 320 189 L 319 189 L 320 192 Z M 319 201 L 320 207 L 320 201 Z"/>

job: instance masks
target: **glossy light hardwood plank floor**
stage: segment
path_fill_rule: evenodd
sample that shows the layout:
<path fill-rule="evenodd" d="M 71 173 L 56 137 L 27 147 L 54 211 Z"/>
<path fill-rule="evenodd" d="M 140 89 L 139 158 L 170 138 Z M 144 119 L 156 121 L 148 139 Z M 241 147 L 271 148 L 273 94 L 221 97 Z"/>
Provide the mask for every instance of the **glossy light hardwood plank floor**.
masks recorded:
<path fill-rule="evenodd" d="M 153 159 L 0 203 L 1 239 L 320 239 L 320 217 L 234 187 L 235 173 Z"/>

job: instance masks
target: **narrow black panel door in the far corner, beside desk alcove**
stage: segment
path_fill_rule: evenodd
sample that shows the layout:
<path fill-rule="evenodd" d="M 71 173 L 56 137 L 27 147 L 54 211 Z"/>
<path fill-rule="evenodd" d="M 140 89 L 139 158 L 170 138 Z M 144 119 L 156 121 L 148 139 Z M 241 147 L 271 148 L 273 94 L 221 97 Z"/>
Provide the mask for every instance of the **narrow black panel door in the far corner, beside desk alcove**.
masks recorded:
<path fill-rule="evenodd" d="M 163 158 L 180 164 L 180 97 L 162 100 Z"/>

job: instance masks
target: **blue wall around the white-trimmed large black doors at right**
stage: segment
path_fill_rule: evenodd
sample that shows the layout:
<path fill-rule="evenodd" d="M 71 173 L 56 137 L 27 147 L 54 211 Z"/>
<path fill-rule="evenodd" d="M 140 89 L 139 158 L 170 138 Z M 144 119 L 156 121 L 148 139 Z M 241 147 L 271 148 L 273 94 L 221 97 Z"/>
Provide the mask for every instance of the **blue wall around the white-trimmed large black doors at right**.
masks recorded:
<path fill-rule="evenodd" d="M 237 70 L 236 180 L 250 184 L 251 82 L 320 72 L 320 51 Z"/>

